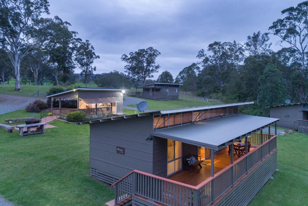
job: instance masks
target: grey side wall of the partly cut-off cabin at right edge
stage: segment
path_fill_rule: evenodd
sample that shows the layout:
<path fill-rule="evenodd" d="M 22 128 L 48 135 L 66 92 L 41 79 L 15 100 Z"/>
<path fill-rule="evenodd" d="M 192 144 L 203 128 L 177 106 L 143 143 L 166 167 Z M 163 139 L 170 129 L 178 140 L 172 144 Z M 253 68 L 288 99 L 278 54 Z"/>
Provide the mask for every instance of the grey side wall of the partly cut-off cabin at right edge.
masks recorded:
<path fill-rule="evenodd" d="M 293 128 L 294 127 L 293 122 L 295 120 L 303 119 L 302 110 L 303 110 L 302 104 L 270 107 L 270 117 L 280 119 L 277 122 L 278 126 Z"/>

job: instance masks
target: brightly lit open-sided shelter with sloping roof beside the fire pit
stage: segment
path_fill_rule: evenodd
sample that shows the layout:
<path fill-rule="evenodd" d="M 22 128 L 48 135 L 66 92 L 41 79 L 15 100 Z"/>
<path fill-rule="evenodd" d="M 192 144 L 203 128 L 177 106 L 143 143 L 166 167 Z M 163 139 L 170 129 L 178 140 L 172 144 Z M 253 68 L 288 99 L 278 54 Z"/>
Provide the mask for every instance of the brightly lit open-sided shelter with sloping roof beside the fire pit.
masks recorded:
<path fill-rule="evenodd" d="M 59 99 L 59 115 L 82 110 L 87 116 L 92 116 L 109 112 L 122 114 L 124 93 L 125 90 L 121 89 L 80 87 L 46 97 L 51 98 L 51 112 L 53 112 L 53 99 Z M 62 108 L 63 99 L 77 99 L 77 108 Z"/>

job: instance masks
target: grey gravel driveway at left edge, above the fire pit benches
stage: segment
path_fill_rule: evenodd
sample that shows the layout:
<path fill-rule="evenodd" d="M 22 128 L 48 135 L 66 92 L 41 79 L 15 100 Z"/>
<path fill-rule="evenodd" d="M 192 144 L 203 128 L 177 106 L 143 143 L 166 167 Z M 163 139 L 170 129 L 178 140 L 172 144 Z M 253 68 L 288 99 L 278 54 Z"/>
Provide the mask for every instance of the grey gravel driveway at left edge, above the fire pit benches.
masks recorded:
<path fill-rule="evenodd" d="M 17 96 L 17 95 L 0 94 L 0 114 L 24 109 L 27 104 L 29 104 L 30 102 L 33 102 L 35 99 L 41 99 L 43 101 L 46 101 L 46 98 L 42 99 L 42 98 L 35 98 L 35 97 L 23 97 L 23 96 Z"/>

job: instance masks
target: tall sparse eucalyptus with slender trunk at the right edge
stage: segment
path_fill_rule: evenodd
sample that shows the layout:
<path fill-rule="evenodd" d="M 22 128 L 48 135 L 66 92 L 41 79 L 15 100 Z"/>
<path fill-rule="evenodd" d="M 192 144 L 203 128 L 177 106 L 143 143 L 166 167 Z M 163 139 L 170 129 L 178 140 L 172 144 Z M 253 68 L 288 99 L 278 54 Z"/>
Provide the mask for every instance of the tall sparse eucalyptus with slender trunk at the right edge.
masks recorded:
<path fill-rule="evenodd" d="M 299 3 L 281 11 L 284 18 L 277 19 L 269 27 L 271 33 L 278 36 L 282 47 L 294 48 L 301 65 L 298 70 L 301 73 L 299 89 L 300 101 L 304 102 L 307 92 L 307 45 L 308 45 L 308 1 Z M 287 45 L 287 46 L 286 46 Z"/>

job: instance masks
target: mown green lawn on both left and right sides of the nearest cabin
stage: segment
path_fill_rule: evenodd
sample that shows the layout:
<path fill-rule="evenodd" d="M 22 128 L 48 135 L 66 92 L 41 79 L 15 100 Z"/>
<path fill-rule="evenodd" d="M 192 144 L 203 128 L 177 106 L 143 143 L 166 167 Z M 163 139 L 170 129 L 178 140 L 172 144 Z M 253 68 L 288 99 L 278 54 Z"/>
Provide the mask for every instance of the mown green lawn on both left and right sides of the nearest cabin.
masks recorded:
<path fill-rule="evenodd" d="M 10 112 L 0 115 L 1 122 L 8 116 L 39 113 Z M 25 137 L 0 128 L 0 195 L 20 205 L 103 205 L 112 200 L 109 185 L 89 176 L 89 125 L 50 124 L 57 128 Z M 307 205 L 308 135 L 277 138 L 279 171 L 249 205 Z"/>

